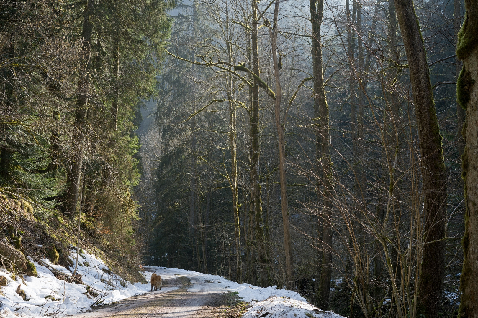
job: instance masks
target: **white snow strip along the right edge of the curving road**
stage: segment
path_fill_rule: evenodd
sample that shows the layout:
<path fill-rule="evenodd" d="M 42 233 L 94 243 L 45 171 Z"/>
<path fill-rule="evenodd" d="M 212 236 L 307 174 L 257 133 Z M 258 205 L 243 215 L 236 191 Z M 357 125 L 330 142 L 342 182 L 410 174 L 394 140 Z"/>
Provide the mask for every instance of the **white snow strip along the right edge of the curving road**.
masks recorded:
<path fill-rule="evenodd" d="M 272 287 L 257 287 L 250 284 L 238 284 L 222 276 L 208 275 L 179 268 L 146 267 L 149 272 L 144 272 L 146 279 L 152 273 L 161 275 L 163 279 L 185 276 L 190 278 L 193 285 L 188 288 L 197 292 L 201 286 L 206 286 L 208 293 L 237 292 L 243 301 L 250 302 L 248 311 L 242 318 L 343 318 L 332 311 L 323 311 L 307 303 L 306 299 L 292 290 L 277 289 Z M 204 290 L 203 290 L 204 292 Z"/>

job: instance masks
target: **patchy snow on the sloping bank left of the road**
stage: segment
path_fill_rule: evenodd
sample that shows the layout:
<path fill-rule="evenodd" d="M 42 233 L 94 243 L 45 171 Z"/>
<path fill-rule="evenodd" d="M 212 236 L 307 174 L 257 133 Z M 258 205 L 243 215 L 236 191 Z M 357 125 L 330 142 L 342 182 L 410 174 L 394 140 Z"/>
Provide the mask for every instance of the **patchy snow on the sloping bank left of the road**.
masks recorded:
<path fill-rule="evenodd" d="M 13 280 L 11 273 L 0 271 L 0 276 L 7 278 L 7 286 L 0 287 L 0 317 L 73 315 L 91 309 L 94 304 L 107 304 L 150 291 L 149 284 L 132 285 L 111 272 L 98 257 L 82 253 L 78 257 L 76 273 L 81 274 L 83 283 L 90 286 L 88 292 L 86 285 L 60 280 L 49 268 L 71 276 L 75 270 L 76 250 L 70 250 L 70 258 L 74 266 L 69 269 L 54 265 L 46 258 L 42 259 L 43 263 L 35 262 L 38 277 L 25 276 L 23 280 L 21 276 L 16 276 Z M 19 284 L 20 289 L 25 292 L 26 300 L 15 292 Z M 175 288 L 162 288 L 162 291 L 172 289 Z"/>

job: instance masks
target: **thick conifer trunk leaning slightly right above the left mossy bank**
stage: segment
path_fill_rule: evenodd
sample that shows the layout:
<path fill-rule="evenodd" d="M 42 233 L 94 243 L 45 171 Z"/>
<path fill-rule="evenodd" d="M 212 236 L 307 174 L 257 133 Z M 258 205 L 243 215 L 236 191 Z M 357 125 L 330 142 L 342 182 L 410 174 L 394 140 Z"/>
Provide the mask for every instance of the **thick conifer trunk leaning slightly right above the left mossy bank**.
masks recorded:
<path fill-rule="evenodd" d="M 81 178 L 81 168 L 83 166 L 83 140 L 84 128 L 86 125 L 88 86 L 90 82 L 88 74 L 88 63 L 91 58 L 91 35 L 93 33 L 93 23 L 91 14 L 93 11 L 93 0 L 86 0 L 85 13 L 83 17 L 82 30 L 82 56 L 80 72 L 78 76 L 78 92 L 76 95 L 75 107 L 75 133 L 73 136 L 72 156 L 70 158 L 70 167 L 66 173 L 68 188 L 64 202 L 65 214 L 73 216 L 78 204 L 79 184 Z"/>

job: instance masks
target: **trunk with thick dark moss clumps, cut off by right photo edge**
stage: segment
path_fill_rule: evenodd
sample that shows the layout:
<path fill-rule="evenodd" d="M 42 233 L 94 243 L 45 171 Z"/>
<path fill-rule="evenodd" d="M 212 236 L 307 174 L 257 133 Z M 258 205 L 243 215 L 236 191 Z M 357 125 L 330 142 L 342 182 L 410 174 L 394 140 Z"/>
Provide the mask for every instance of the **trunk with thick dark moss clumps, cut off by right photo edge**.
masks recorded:
<path fill-rule="evenodd" d="M 456 95 L 460 106 L 466 109 L 462 157 L 466 212 L 459 318 L 478 317 L 478 1 L 465 0 L 465 9 L 467 13 L 456 48 L 457 57 L 463 61 Z"/>

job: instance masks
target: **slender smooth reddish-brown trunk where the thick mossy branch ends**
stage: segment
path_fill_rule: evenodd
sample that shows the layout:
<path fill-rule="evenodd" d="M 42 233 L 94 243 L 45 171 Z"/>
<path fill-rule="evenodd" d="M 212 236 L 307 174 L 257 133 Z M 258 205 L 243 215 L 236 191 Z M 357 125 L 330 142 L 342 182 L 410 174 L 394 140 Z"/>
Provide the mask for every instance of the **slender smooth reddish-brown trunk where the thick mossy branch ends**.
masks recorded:
<path fill-rule="evenodd" d="M 287 180 L 285 176 L 285 136 L 284 136 L 284 122 L 281 121 L 281 75 L 279 70 L 279 60 L 277 59 L 277 20 L 279 15 L 279 0 L 275 1 L 274 6 L 274 21 L 272 29 L 269 29 L 271 36 L 271 50 L 272 61 L 274 63 L 274 78 L 275 78 L 275 100 L 274 100 L 274 116 L 275 126 L 277 129 L 277 137 L 279 139 L 279 177 L 281 183 L 281 208 L 282 208 L 282 225 L 284 230 L 284 254 L 285 254 L 285 272 L 287 279 L 287 286 L 289 288 L 295 287 L 292 277 L 292 243 L 291 231 L 289 226 L 289 209 L 287 201 Z M 270 27 L 270 26 L 269 26 Z M 282 66 L 281 66 L 282 67 Z"/>

